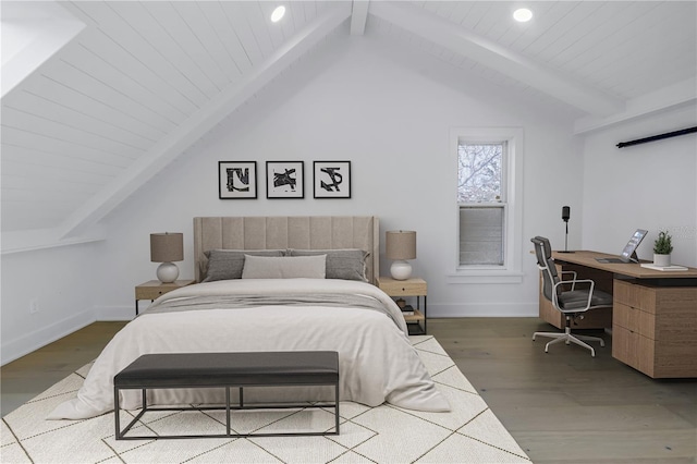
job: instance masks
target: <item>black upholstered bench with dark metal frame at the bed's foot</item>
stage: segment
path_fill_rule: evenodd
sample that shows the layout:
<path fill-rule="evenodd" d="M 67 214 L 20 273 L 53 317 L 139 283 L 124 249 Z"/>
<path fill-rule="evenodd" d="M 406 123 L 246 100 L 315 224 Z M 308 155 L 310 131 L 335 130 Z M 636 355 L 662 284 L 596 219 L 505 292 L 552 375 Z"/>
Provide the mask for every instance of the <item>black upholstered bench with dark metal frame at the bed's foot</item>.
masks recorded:
<path fill-rule="evenodd" d="M 334 403 L 283 405 L 283 407 L 334 407 L 333 431 L 304 431 L 279 434 L 232 434 L 230 426 L 231 410 L 258 408 L 245 406 L 243 388 L 245 387 L 286 387 L 286 386 L 333 386 Z M 174 388 L 224 388 L 225 405 L 210 407 L 149 407 L 146 391 L 151 389 Z M 230 388 L 239 388 L 239 405 L 230 405 Z M 138 415 L 121 430 L 119 412 L 119 392 L 125 389 L 139 389 L 143 395 L 143 408 Z M 143 440 L 155 438 L 230 438 L 230 437 L 278 437 L 339 435 L 339 354 L 330 351 L 289 351 L 262 353 L 162 353 L 146 354 L 138 357 L 113 378 L 114 423 L 117 440 Z M 277 405 L 266 405 L 277 408 Z M 146 412 L 152 411 L 204 411 L 225 410 L 225 434 L 189 436 L 146 436 L 125 437 L 131 428 Z M 331 429 L 329 429 L 331 430 Z"/>

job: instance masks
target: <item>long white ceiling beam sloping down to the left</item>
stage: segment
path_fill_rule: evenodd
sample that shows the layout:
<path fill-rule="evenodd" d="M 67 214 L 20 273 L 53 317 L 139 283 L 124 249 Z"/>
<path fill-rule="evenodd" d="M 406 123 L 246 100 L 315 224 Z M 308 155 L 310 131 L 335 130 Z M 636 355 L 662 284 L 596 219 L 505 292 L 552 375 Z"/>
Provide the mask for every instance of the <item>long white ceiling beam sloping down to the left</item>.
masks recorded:
<path fill-rule="evenodd" d="M 264 64 L 247 73 L 239 83 L 224 88 L 191 118 L 158 142 L 124 175 L 108 185 L 71 215 L 60 227 L 60 240 L 84 231 L 113 210 L 133 192 L 147 183 L 185 149 L 240 108 L 267 83 L 332 33 L 351 16 L 351 4 L 341 3 L 299 30 Z"/>

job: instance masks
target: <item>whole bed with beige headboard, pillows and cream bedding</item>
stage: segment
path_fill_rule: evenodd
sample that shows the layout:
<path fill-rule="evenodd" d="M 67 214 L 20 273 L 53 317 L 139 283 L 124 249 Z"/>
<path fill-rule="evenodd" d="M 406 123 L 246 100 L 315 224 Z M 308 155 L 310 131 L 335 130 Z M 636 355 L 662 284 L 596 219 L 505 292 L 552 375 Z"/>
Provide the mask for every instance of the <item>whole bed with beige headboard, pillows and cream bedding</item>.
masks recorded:
<path fill-rule="evenodd" d="M 148 353 L 337 351 L 340 399 L 449 411 L 412 347 L 379 276 L 377 217 L 194 218 L 198 283 L 172 291 L 129 322 L 105 347 L 77 396 L 49 419 L 113 411 L 113 376 Z M 245 402 L 325 401 L 326 387 L 259 388 Z M 122 407 L 140 406 L 137 391 Z M 234 401 L 234 399 L 233 399 Z M 223 390 L 148 392 L 150 404 L 216 404 Z"/>

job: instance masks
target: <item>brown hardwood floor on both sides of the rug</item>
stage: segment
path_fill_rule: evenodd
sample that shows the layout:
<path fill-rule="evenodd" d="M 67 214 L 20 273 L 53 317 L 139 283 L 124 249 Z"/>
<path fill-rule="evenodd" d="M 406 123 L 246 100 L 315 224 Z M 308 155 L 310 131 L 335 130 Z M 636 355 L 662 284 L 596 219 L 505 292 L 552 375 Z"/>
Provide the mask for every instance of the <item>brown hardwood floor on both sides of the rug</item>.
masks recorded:
<path fill-rule="evenodd" d="M 2 366 L 2 415 L 94 359 L 123 322 L 96 322 Z M 430 319 L 435 335 L 535 463 L 696 463 L 697 379 L 652 380 L 612 357 L 531 341 L 537 318 Z"/>

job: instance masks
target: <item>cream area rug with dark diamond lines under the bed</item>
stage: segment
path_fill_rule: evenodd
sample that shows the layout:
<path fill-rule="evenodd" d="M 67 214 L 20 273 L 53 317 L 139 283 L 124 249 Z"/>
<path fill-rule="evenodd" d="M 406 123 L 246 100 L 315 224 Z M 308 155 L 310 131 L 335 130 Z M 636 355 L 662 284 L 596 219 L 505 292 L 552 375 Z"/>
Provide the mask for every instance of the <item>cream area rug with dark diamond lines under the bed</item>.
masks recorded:
<path fill-rule="evenodd" d="M 3 463 L 517 463 L 529 459 L 442 346 L 409 337 L 452 411 L 423 413 L 390 404 L 340 404 L 341 435 L 176 440 L 114 440 L 113 413 L 85 420 L 45 420 L 75 396 L 86 365 L 2 419 Z M 136 412 L 124 412 L 127 424 Z M 239 432 L 329 429 L 333 408 L 243 411 Z M 137 435 L 216 434 L 224 412 L 148 413 Z M 248 431 L 245 431 L 248 430 Z"/>

